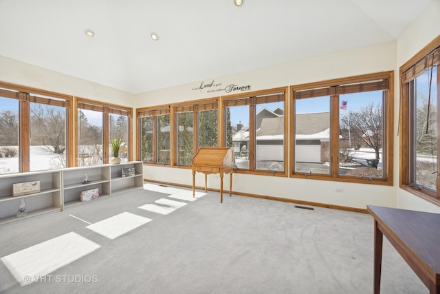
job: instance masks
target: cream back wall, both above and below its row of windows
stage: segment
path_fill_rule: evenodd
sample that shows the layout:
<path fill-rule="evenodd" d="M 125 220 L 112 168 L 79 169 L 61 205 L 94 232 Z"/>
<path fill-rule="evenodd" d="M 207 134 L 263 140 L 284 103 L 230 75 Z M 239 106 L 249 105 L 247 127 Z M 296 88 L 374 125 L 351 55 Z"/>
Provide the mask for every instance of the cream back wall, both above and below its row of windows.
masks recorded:
<path fill-rule="evenodd" d="M 251 85 L 251 91 L 256 91 L 396 69 L 396 42 L 389 42 L 336 52 L 316 58 L 292 61 L 232 76 L 206 78 L 206 81 L 203 82 L 210 83 L 210 81 L 214 80 L 215 83 L 221 83 L 222 86 L 229 85 L 230 83 Z M 206 90 L 192 90 L 198 87 L 200 83 L 201 81 L 139 94 L 137 95 L 136 107 L 227 95 L 225 92 L 219 94 L 219 92 L 208 93 Z M 287 105 L 286 109 L 289 109 Z M 287 161 L 289 162 L 290 160 Z M 183 185 L 192 184 L 192 172 L 190 169 L 145 166 L 144 174 L 146 178 L 152 180 L 176 182 Z M 228 176 L 225 176 L 224 180 L 224 187 L 228 188 Z M 196 185 L 203 187 L 204 180 L 202 174 L 197 174 Z M 208 187 L 219 189 L 218 175 L 208 176 Z M 343 192 L 336 192 L 336 188 L 342 188 Z M 367 204 L 387 207 L 396 207 L 397 205 L 395 186 L 360 185 L 347 182 L 234 174 L 232 189 L 233 191 L 243 193 L 321 202 L 361 209 L 365 209 Z"/>

